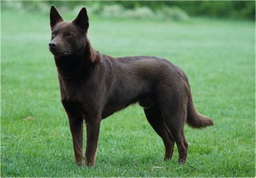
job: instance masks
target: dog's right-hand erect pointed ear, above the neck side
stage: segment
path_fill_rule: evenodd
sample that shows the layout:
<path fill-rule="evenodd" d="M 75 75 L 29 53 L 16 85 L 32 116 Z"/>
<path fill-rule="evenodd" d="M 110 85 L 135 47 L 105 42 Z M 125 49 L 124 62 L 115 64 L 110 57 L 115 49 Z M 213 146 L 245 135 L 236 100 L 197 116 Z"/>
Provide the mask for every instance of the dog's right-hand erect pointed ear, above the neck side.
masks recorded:
<path fill-rule="evenodd" d="M 80 10 L 77 18 L 73 20 L 73 23 L 84 30 L 84 32 L 87 32 L 87 29 L 89 28 L 89 18 L 87 16 L 86 8 Z"/>

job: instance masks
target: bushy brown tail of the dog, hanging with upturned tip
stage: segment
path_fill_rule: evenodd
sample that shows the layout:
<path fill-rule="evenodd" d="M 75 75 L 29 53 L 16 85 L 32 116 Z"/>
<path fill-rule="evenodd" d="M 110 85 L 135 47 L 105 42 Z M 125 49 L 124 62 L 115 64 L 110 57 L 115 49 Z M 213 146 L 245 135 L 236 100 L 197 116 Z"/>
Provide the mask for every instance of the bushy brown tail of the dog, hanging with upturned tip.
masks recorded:
<path fill-rule="evenodd" d="M 187 85 L 190 88 L 190 84 L 188 79 L 186 78 Z M 192 94 L 188 96 L 188 105 L 187 105 L 187 124 L 194 128 L 204 128 L 207 126 L 213 126 L 214 122 L 211 118 L 206 117 L 205 115 L 201 115 L 198 113 L 196 107 L 194 106 Z"/>

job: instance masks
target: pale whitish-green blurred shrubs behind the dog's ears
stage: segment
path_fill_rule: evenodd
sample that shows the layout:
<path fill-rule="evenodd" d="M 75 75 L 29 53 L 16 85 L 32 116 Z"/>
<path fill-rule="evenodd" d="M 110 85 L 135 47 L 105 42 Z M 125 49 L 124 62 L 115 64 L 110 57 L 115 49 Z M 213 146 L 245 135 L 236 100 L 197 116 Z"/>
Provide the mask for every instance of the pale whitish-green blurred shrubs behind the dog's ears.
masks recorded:
<path fill-rule="evenodd" d="M 178 6 L 162 6 L 160 9 L 152 10 L 148 6 L 135 6 L 125 8 L 122 4 L 102 2 L 52 2 L 57 8 L 65 13 L 77 13 L 86 6 L 88 13 L 94 16 L 132 18 L 132 19 L 155 19 L 155 20 L 177 20 L 190 19 L 187 13 Z M 40 12 L 49 13 L 50 3 L 45 2 L 4 2 L 4 9 L 12 12 Z"/>

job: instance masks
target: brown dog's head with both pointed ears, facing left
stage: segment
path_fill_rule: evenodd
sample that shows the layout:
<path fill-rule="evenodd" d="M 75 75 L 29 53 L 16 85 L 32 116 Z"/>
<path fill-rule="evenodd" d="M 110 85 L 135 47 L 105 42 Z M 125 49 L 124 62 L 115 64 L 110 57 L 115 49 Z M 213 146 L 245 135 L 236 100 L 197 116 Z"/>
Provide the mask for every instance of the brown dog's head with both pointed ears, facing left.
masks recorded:
<path fill-rule="evenodd" d="M 89 28 L 86 8 L 82 8 L 72 22 L 64 22 L 55 6 L 52 5 L 50 26 L 52 33 L 49 50 L 54 56 L 80 56 L 83 53 Z"/>

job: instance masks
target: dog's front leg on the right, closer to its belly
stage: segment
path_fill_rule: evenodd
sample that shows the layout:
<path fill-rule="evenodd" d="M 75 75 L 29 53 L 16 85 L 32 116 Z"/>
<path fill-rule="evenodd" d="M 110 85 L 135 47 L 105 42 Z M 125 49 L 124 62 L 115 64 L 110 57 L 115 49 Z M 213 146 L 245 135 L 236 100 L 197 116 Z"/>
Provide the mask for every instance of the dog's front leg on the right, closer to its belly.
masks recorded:
<path fill-rule="evenodd" d="M 86 151 L 85 151 L 85 164 L 86 166 L 95 165 L 95 155 L 97 150 L 99 138 L 99 125 L 100 120 L 85 121 L 86 124 Z"/>

